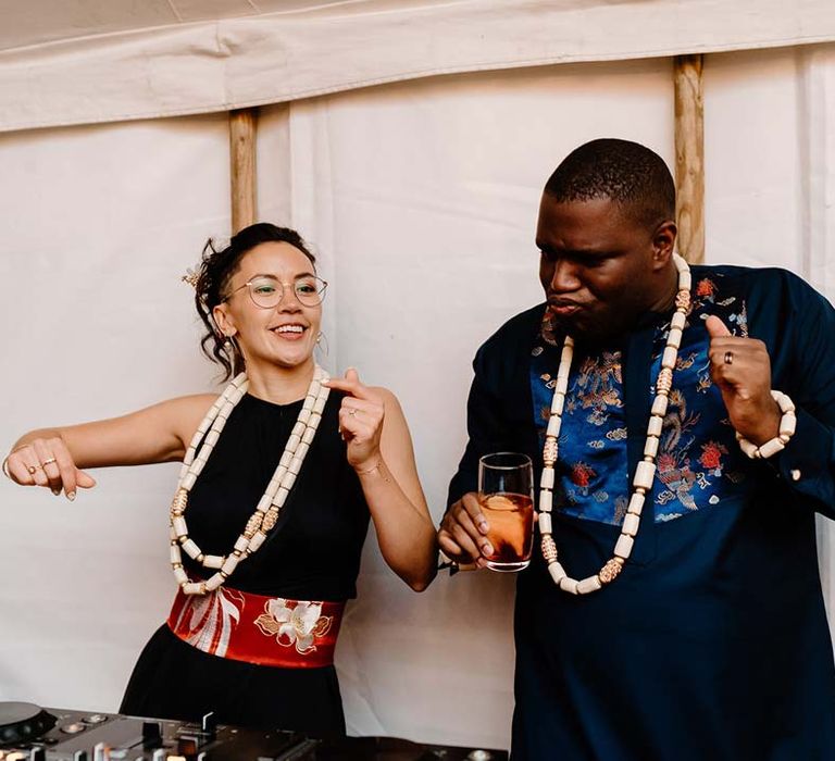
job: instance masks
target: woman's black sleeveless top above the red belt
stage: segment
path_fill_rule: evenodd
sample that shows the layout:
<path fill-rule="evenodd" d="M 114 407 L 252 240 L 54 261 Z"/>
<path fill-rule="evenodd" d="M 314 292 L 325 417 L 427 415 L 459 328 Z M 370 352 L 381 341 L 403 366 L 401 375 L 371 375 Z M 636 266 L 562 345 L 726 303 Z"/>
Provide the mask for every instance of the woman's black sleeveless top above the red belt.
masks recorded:
<path fill-rule="evenodd" d="M 370 516 L 338 433 L 342 396 L 328 396 L 278 523 L 261 548 L 238 564 L 226 586 L 294 600 L 357 596 Z M 278 465 L 301 406 L 301 400 L 274 404 L 246 395 L 232 411 L 186 510 L 189 535 L 204 553 L 232 550 Z M 201 572 L 185 553 L 184 565 Z"/>

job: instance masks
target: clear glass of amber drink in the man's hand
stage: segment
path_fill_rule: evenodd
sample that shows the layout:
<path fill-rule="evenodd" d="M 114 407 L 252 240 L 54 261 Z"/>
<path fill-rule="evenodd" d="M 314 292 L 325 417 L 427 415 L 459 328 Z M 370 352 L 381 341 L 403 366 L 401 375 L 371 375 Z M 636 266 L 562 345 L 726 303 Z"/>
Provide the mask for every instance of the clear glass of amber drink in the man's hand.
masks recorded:
<path fill-rule="evenodd" d="M 489 531 L 493 571 L 521 571 L 531 563 L 534 531 L 531 458 L 516 452 L 485 454 L 478 461 L 478 502 Z"/>

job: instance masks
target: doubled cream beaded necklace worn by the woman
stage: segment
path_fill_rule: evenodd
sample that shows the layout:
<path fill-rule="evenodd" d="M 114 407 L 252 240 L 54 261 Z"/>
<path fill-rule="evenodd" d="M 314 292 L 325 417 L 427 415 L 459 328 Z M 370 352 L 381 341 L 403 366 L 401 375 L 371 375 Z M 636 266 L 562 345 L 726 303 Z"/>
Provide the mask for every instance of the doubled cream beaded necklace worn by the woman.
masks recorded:
<path fill-rule="evenodd" d="M 275 526 L 278 513 L 284 507 L 301 469 L 301 463 L 304 461 L 304 456 L 316 434 L 316 428 L 322 422 L 322 412 L 325 409 L 327 395 L 331 392 L 331 389 L 323 383 L 328 377 L 322 367 L 315 366 L 313 379 L 310 382 L 304 402 L 296 420 L 296 425 L 287 439 L 278 466 L 266 485 L 256 511 L 247 521 L 244 532 L 235 541 L 232 552 L 226 556 L 204 554 L 202 552 L 195 540 L 188 536 L 185 512 L 188 507 L 188 494 L 209 460 L 223 426 L 226 425 L 232 410 L 247 392 L 249 380 L 246 373 L 240 373 L 226 386 L 203 417 L 186 451 L 179 471 L 177 491 L 171 503 L 171 565 L 177 584 L 186 595 L 204 595 L 217 589 L 232 575 L 241 560 L 246 560 L 261 547 L 266 535 Z M 204 582 L 191 582 L 183 567 L 180 550 L 204 569 L 214 570 L 215 573 Z"/>

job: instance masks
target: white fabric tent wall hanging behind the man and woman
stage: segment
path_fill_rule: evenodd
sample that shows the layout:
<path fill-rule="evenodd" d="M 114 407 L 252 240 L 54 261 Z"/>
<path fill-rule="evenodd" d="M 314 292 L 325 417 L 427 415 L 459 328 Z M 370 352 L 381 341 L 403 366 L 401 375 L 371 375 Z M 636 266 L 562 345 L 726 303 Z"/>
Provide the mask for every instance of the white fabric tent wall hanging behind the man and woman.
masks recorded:
<path fill-rule="evenodd" d="M 319 249 L 324 363 L 401 399 L 436 519 L 470 361 L 539 299 L 534 225 L 556 163 L 597 136 L 673 158 L 669 60 L 403 83 L 265 111 L 260 209 Z M 708 59 L 711 262 L 780 264 L 835 296 L 835 46 Z M 25 429 L 210 387 L 178 276 L 227 214 L 224 117 L 0 137 L 0 449 Z M 173 465 L 97 472 L 75 503 L 0 482 L 0 700 L 113 710 L 173 583 Z M 822 534 L 827 594 L 835 564 Z M 337 652 L 350 731 L 507 746 L 512 579 L 422 596 L 373 538 Z"/>

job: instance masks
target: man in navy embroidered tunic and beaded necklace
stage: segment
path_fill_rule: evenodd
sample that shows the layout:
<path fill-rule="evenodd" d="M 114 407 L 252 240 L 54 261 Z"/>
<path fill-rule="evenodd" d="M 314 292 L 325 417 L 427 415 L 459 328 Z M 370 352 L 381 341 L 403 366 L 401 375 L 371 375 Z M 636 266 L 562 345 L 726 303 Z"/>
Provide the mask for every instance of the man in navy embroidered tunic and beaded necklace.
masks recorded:
<path fill-rule="evenodd" d="M 557 560 L 537 532 L 516 589 L 514 761 L 835 758 L 814 532 L 815 512 L 835 515 L 835 311 L 782 270 L 680 275 L 674 210 L 670 172 L 647 148 L 573 151 L 539 208 L 547 303 L 475 358 L 438 539 L 483 566 L 478 458 L 525 452 L 539 483 L 574 341 L 543 491 Z M 655 464 L 646 495 L 640 461 Z"/>

